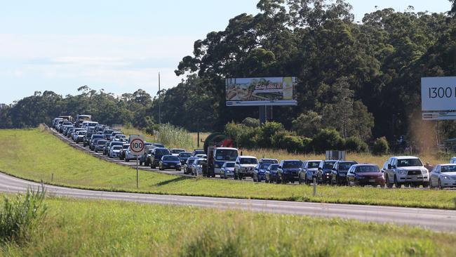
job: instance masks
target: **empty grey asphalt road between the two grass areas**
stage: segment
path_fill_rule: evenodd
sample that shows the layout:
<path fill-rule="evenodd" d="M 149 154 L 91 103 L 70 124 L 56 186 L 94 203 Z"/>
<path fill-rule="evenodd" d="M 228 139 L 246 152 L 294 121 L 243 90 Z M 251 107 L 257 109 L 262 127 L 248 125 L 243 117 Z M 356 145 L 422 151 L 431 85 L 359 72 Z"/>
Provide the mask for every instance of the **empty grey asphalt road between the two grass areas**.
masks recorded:
<path fill-rule="evenodd" d="M 0 192 L 25 192 L 27 187 L 36 189 L 38 183 L 0 173 Z M 241 209 L 246 211 L 283 213 L 327 218 L 345 218 L 364 222 L 396 223 L 420 226 L 430 230 L 456 232 L 456 211 L 417 209 L 389 206 L 363 206 L 349 204 L 319 204 L 269 200 L 229 199 L 214 197 L 185 197 L 176 195 L 146 195 L 135 193 L 79 190 L 45 185 L 48 195 L 79 199 L 107 199 L 147 204 L 174 204 L 216 209 Z"/>

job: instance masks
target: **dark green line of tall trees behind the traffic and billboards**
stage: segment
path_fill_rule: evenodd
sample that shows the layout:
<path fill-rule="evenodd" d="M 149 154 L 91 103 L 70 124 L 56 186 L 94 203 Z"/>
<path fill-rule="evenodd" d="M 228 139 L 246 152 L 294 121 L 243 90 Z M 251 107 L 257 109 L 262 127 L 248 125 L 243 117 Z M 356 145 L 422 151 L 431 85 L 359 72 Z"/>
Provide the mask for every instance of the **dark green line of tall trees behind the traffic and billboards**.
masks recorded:
<path fill-rule="evenodd" d="M 361 22 L 342 0 L 260 0 L 257 8 L 194 42 L 193 54 L 175 70 L 185 79 L 162 92 L 162 122 L 224 131 L 229 122 L 258 117 L 257 107 L 225 105 L 224 78 L 295 76 L 298 105 L 273 107 L 272 116 L 296 136 L 335 129 L 343 139 L 405 136 L 418 144 L 424 135 L 433 145 L 456 137 L 455 121 L 422 121 L 420 110 L 421 77 L 456 73 L 454 3 L 448 13 L 386 8 Z M 0 110 L 0 126 L 36 126 L 83 112 L 107 124 L 147 128 L 158 121 L 159 99 L 145 91 L 79 90 L 65 97 L 36 92 Z"/>

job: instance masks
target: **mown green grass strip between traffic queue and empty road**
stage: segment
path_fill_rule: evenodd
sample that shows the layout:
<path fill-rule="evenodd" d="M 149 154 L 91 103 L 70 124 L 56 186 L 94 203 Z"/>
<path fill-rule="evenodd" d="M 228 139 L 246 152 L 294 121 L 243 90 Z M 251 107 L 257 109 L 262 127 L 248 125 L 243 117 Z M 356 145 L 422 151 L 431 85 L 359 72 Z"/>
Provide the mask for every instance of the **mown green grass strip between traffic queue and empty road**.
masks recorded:
<path fill-rule="evenodd" d="M 1 130 L 0 145 L 0 171 L 54 185 L 170 195 L 455 209 L 455 192 L 450 190 L 318 186 L 318 195 L 313 197 L 312 187 L 306 185 L 239 183 L 152 171 L 140 171 L 137 190 L 135 169 L 92 157 L 41 129 Z"/>

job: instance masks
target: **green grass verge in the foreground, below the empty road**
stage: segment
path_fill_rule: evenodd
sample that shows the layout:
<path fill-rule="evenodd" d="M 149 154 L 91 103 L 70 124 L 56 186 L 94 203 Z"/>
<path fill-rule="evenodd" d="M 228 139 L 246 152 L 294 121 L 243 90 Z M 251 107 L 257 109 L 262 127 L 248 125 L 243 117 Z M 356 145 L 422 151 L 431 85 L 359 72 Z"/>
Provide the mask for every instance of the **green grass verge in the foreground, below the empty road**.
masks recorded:
<path fill-rule="evenodd" d="M 0 200 L 1 202 L 1 200 Z M 51 198 L 2 256 L 456 256 L 456 235 L 248 211 Z"/>

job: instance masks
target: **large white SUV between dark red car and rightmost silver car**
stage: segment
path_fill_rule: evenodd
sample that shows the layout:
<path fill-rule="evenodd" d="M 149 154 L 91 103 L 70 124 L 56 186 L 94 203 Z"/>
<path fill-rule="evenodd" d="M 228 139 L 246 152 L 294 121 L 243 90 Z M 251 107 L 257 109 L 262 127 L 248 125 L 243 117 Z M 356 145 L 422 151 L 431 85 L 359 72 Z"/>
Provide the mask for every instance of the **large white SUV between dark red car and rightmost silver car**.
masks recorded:
<path fill-rule="evenodd" d="M 429 187 L 429 171 L 424 168 L 420 158 L 413 156 L 391 157 L 384 174 L 387 187 L 401 188 L 402 185 Z"/>

